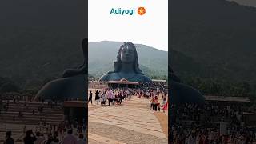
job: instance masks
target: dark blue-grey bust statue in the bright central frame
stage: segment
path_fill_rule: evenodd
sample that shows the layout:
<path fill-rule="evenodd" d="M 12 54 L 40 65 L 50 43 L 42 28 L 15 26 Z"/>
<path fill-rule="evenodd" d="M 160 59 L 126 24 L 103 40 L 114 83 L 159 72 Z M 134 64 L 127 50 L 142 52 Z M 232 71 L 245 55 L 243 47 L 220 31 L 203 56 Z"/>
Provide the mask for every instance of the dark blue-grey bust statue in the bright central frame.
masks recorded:
<path fill-rule="evenodd" d="M 151 82 L 139 69 L 137 50 L 131 42 L 124 42 L 120 46 L 117 61 L 114 62 L 114 71 L 102 75 L 99 81 L 118 81 L 122 78 L 130 82 Z"/>

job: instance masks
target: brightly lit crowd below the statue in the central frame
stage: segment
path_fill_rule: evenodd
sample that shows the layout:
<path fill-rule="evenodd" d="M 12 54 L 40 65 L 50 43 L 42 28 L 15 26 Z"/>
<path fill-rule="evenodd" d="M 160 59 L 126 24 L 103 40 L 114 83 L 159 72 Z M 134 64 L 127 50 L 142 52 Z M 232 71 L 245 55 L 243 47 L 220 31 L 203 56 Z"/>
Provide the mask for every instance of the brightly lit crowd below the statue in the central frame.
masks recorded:
<path fill-rule="evenodd" d="M 96 105 L 121 105 L 123 101 L 129 100 L 131 96 L 150 99 L 150 110 L 165 112 L 168 108 L 167 92 L 164 85 L 144 83 L 138 88 L 103 88 L 89 92 L 88 102 Z M 159 97 L 162 96 L 162 102 Z"/>

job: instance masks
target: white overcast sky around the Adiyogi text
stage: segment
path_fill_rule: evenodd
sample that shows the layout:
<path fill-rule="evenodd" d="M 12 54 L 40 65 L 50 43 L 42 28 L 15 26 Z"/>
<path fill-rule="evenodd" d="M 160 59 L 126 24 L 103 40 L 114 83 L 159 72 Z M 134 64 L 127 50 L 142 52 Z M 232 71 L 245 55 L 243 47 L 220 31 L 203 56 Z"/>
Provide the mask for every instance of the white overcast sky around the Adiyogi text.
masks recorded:
<path fill-rule="evenodd" d="M 146 8 L 142 16 L 140 6 Z M 88 8 L 89 42 L 129 41 L 168 50 L 168 0 L 89 0 Z M 135 14 L 110 14 L 112 8 L 135 8 Z"/>

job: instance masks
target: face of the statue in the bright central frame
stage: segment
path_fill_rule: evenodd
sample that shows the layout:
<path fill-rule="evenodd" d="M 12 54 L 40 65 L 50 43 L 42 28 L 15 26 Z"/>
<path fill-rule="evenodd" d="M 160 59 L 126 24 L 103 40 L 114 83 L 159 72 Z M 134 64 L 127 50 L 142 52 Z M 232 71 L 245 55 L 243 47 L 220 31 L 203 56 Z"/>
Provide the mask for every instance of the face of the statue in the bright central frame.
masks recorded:
<path fill-rule="evenodd" d="M 126 62 L 126 63 L 134 62 L 134 58 L 135 58 L 135 50 L 133 47 L 131 46 L 122 47 L 122 50 L 121 50 L 122 62 Z"/>

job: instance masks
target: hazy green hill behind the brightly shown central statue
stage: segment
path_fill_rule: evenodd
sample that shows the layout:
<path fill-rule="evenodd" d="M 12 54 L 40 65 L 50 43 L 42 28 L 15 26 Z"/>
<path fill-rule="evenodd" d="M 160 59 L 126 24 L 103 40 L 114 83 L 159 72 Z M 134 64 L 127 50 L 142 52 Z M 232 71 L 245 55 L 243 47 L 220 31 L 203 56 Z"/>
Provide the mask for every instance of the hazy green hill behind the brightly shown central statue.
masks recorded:
<path fill-rule="evenodd" d="M 118 49 L 123 42 L 89 42 L 88 71 L 95 77 L 114 70 L 113 62 L 116 61 Z M 154 47 L 136 44 L 139 65 L 142 71 L 150 76 L 166 77 L 168 73 L 168 52 Z"/>

